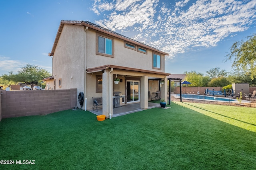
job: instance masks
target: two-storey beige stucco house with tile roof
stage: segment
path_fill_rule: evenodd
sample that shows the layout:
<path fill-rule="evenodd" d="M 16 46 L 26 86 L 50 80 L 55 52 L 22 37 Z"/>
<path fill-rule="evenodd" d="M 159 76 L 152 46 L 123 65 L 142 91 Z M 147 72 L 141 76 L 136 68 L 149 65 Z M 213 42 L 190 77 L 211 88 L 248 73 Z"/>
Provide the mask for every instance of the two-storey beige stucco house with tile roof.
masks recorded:
<path fill-rule="evenodd" d="M 92 108 L 92 97 L 102 96 L 102 113 L 107 117 L 113 113 L 112 97 L 117 91 L 125 95 L 124 104 L 140 102 L 147 109 L 149 92 L 161 90 L 167 100 L 167 83 L 158 85 L 159 80 L 167 82 L 169 75 L 164 72 L 165 55 L 94 23 L 62 20 L 49 53 L 53 76 L 47 84 L 49 89 L 83 92 L 87 110 Z M 119 84 L 114 84 L 115 77 L 120 78 Z"/>

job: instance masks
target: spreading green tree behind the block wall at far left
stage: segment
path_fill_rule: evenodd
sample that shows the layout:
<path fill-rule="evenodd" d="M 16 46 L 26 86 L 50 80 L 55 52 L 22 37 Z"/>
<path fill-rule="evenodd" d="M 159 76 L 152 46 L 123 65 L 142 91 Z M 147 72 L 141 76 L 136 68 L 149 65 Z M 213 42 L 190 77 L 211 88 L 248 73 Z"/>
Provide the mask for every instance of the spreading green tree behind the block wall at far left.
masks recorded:
<path fill-rule="evenodd" d="M 17 74 L 9 72 L 9 74 L 2 75 L 3 80 L 9 80 L 13 82 L 24 82 L 25 84 L 32 85 L 38 84 L 40 80 L 50 76 L 50 72 L 40 68 L 39 66 L 26 64 L 26 66 L 21 67 L 21 70 Z"/>

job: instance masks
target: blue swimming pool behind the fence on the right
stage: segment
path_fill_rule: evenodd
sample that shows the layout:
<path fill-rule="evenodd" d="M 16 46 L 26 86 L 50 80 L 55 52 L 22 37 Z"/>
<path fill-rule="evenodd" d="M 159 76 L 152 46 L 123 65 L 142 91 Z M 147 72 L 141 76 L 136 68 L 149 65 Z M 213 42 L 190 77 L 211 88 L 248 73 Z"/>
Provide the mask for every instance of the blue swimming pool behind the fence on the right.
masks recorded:
<path fill-rule="evenodd" d="M 175 94 L 174 98 L 180 98 L 180 94 Z M 238 100 L 233 98 L 222 98 L 222 97 L 215 97 L 215 96 L 205 96 L 205 95 L 197 95 L 197 94 L 182 94 L 182 99 L 188 100 L 206 100 L 206 101 L 213 101 L 213 102 L 238 102 Z M 248 103 L 247 100 L 242 100 L 242 103 Z"/>

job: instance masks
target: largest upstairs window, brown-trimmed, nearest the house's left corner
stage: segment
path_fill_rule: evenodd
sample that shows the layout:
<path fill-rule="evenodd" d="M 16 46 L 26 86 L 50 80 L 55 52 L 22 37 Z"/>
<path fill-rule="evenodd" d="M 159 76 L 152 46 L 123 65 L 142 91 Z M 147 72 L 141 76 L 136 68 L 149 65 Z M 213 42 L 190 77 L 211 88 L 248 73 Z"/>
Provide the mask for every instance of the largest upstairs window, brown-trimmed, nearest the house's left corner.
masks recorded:
<path fill-rule="evenodd" d="M 96 34 L 96 54 L 114 57 L 114 39 Z"/>

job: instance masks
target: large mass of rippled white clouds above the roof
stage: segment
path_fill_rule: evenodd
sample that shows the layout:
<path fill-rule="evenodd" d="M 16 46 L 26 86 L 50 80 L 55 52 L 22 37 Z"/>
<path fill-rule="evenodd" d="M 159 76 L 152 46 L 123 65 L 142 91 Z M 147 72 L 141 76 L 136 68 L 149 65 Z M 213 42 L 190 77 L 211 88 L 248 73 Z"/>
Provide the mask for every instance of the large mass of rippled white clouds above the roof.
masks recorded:
<path fill-rule="evenodd" d="M 162 1 L 162 0 L 160 0 Z M 95 0 L 96 21 L 113 31 L 132 31 L 134 38 L 170 54 L 193 47 L 216 46 L 225 37 L 248 29 L 256 20 L 256 0 Z"/>

